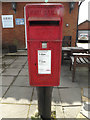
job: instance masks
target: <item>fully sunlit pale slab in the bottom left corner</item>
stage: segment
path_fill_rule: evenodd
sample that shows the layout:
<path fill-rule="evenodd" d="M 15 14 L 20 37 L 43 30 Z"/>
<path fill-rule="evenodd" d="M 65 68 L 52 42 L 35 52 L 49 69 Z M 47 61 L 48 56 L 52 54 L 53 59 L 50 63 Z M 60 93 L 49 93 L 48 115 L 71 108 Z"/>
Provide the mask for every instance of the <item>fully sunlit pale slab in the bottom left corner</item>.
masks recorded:
<path fill-rule="evenodd" d="M 0 117 L 5 118 L 27 118 L 28 105 L 0 104 Z"/>

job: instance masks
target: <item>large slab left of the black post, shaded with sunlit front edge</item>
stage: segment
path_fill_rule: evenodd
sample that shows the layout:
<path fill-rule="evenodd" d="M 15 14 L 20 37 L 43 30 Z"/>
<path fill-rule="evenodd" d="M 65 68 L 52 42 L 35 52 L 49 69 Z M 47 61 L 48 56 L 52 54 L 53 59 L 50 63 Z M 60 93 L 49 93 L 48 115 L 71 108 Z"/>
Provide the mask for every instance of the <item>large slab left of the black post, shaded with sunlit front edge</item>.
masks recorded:
<path fill-rule="evenodd" d="M 1 103 L 30 104 L 32 90 L 31 87 L 10 87 Z"/>

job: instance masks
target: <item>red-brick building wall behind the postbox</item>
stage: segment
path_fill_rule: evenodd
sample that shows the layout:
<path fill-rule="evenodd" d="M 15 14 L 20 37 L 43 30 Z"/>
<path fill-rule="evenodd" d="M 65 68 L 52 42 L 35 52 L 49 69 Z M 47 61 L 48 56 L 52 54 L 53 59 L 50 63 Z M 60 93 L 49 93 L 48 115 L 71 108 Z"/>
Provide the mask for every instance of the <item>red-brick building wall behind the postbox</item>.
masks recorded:
<path fill-rule="evenodd" d="M 8 1 L 8 0 L 7 0 Z M 2 43 L 3 45 L 11 45 L 16 42 L 18 49 L 27 48 L 26 45 L 26 33 L 25 24 L 16 25 L 16 18 L 24 18 L 24 7 L 28 2 L 16 2 L 16 13 L 12 9 L 12 2 L 2 2 L 2 15 L 13 15 L 13 28 L 2 28 Z M 45 2 L 41 0 L 42 2 Z M 38 0 L 38 2 L 41 2 Z M 63 17 L 63 37 L 72 36 L 72 46 L 75 45 L 76 33 L 77 33 L 77 20 L 78 20 L 78 1 L 74 3 L 74 9 L 70 12 L 70 2 L 62 2 L 62 0 L 49 0 L 48 2 L 58 2 L 64 5 L 64 17 Z M 64 0 L 63 0 L 64 1 Z M 65 0 L 66 1 L 66 0 Z M 73 0 L 72 0 L 73 1 Z M 31 1 L 31 2 L 35 2 Z"/>

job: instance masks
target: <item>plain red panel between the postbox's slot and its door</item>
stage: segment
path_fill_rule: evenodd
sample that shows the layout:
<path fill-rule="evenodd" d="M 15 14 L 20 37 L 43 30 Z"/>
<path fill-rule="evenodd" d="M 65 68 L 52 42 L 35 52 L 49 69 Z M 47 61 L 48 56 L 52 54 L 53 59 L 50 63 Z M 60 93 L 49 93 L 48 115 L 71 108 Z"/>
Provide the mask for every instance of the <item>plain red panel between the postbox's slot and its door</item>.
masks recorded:
<path fill-rule="evenodd" d="M 30 40 L 59 40 L 59 26 L 31 26 Z"/>

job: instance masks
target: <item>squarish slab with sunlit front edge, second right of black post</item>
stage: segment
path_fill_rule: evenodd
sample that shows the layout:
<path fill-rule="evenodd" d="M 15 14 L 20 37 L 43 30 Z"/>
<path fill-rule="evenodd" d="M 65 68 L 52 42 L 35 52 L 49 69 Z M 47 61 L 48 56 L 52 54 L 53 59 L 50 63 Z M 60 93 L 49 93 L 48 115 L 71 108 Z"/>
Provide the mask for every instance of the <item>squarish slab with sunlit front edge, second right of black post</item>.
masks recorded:
<path fill-rule="evenodd" d="M 59 89 L 62 106 L 81 105 L 81 89 L 66 88 Z"/>

